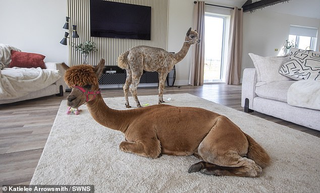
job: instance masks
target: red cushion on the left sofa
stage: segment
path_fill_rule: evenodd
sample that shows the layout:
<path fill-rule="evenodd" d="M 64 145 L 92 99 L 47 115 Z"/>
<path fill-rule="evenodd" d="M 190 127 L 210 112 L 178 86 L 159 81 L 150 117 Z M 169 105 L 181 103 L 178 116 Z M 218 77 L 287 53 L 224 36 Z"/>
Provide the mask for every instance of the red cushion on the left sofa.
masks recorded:
<path fill-rule="evenodd" d="M 18 52 L 11 50 L 11 62 L 9 68 L 37 68 L 45 69 L 43 59 L 45 56 L 41 54 Z"/>

